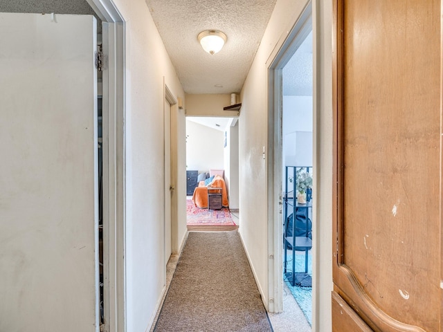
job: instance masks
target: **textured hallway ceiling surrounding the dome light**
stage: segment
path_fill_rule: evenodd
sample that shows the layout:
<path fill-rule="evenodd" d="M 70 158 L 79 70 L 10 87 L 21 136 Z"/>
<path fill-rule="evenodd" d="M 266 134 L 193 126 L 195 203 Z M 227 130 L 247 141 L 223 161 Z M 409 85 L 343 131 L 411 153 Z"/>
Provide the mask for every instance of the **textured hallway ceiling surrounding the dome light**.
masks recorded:
<path fill-rule="evenodd" d="M 275 0 L 146 0 L 186 93 L 239 93 Z M 197 41 L 203 30 L 228 40 L 215 55 Z M 217 87 L 221 85 L 222 87 Z"/>

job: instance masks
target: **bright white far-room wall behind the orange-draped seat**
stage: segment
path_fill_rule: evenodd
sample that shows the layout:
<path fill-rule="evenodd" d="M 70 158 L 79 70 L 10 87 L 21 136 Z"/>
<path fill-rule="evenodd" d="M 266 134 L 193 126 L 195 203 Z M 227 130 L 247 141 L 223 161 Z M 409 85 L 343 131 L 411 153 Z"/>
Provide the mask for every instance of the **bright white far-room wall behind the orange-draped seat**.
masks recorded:
<path fill-rule="evenodd" d="M 186 120 L 186 141 L 186 169 L 224 169 L 223 131 Z"/>

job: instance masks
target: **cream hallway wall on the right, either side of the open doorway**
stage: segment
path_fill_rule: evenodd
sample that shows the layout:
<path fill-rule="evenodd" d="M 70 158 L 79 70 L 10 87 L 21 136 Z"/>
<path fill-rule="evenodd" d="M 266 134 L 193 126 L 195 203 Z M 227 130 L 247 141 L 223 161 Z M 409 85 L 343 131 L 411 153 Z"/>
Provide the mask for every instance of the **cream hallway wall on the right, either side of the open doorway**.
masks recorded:
<path fill-rule="evenodd" d="M 268 220 L 266 160 L 262 147 L 267 146 L 268 130 L 268 68 L 285 37 L 308 1 L 277 0 L 273 15 L 255 55 L 251 70 L 241 93 L 242 110 L 239 118 L 239 209 L 242 227 L 239 232 L 251 261 L 264 303 L 268 298 Z M 330 294 L 332 291 L 332 5 L 330 1 L 313 0 L 314 7 L 314 166 L 320 183 L 314 184 L 317 207 L 314 217 L 314 325 L 313 331 L 331 331 Z M 318 37 L 316 37 L 318 34 Z M 318 39 L 317 39 L 318 38 Z M 268 151 L 266 151 L 266 156 Z M 321 167 L 320 167 L 321 165 Z M 254 200 L 251 200 L 251 192 Z M 260 202 L 256 204 L 254 202 Z M 320 272 L 321 271 L 321 272 Z"/>

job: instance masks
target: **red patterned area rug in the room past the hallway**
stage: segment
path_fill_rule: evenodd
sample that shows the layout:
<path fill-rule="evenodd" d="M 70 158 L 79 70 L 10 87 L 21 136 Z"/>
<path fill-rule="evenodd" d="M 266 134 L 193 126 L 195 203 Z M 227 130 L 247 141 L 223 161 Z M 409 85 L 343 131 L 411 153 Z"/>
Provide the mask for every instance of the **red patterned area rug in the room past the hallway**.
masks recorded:
<path fill-rule="evenodd" d="M 186 200 L 186 223 L 189 226 L 235 225 L 229 209 L 208 210 L 197 208 L 192 199 Z"/>

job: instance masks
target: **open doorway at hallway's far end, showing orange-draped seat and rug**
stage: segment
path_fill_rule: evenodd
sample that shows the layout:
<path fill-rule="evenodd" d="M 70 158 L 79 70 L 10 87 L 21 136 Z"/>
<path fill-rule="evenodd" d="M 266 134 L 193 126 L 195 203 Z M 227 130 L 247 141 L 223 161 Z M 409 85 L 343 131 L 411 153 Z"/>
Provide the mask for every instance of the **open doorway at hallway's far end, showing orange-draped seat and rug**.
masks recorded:
<path fill-rule="evenodd" d="M 238 118 L 186 117 L 188 230 L 203 230 L 203 225 L 210 230 L 215 230 L 216 226 L 238 227 L 238 128 Z M 221 171 L 221 179 L 211 178 L 214 175 L 211 172 L 215 170 Z M 196 189 L 201 181 L 209 184 L 211 179 L 225 187 L 221 195 L 221 209 L 208 210 L 207 192 L 204 194 L 204 189 Z"/>

